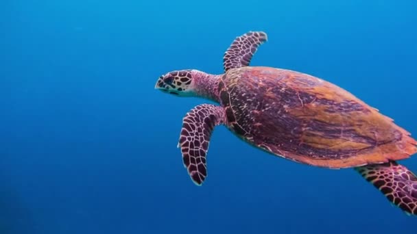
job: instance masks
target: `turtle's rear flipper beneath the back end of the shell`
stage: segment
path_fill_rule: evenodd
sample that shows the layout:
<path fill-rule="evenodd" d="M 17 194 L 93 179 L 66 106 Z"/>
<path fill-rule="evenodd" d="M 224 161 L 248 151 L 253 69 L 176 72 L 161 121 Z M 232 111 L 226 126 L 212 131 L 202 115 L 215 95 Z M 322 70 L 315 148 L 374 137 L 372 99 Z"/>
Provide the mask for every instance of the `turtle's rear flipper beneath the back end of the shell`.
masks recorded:
<path fill-rule="evenodd" d="M 394 205 L 408 214 L 417 215 L 417 177 L 405 166 L 389 161 L 355 169 Z"/>

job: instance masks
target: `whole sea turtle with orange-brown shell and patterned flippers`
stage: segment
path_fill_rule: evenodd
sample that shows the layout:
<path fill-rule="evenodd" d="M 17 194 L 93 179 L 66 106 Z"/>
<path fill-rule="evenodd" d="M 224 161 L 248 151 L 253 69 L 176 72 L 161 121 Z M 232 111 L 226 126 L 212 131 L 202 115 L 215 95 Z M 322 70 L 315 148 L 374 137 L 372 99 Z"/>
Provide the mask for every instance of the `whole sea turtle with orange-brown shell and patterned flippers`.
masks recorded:
<path fill-rule="evenodd" d="M 178 147 L 197 185 L 206 179 L 213 128 L 285 159 L 324 168 L 355 168 L 392 203 L 417 215 L 417 177 L 396 162 L 417 152 L 417 142 L 391 118 L 328 81 L 265 66 L 249 66 L 263 31 L 249 31 L 224 53 L 224 74 L 175 70 L 155 88 L 219 103 L 191 109 L 182 120 Z"/>

